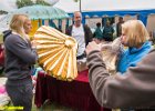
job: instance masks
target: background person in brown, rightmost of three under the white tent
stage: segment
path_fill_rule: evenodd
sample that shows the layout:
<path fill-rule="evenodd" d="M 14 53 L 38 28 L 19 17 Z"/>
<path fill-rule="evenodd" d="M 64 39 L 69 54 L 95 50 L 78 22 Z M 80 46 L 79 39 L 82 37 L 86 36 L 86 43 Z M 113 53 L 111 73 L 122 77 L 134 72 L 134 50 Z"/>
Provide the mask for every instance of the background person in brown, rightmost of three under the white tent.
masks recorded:
<path fill-rule="evenodd" d="M 118 18 L 118 22 L 116 23 L 116 36 L 121 37 L 122 36 L 122 23 L 124 23 L 123 18 Z"/>

